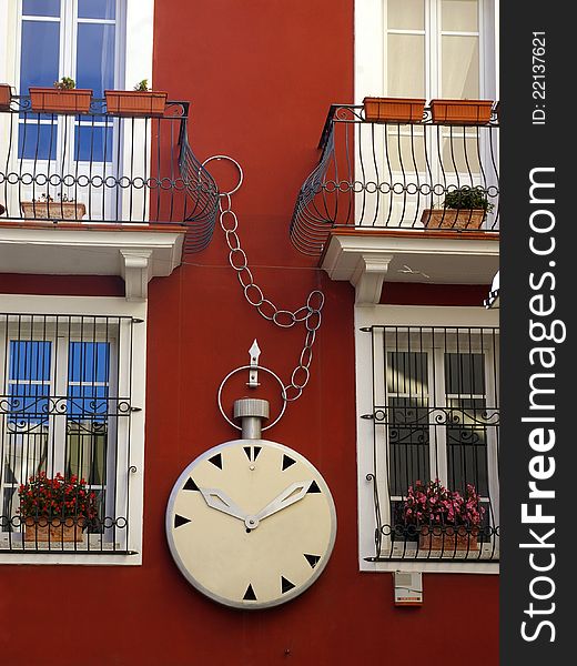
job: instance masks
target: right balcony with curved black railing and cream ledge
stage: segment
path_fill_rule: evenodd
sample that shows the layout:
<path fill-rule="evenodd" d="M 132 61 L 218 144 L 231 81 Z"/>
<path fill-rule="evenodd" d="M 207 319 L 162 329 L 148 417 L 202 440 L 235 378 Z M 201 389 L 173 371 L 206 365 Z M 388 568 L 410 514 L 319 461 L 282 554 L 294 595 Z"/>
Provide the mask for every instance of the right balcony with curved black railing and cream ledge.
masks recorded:
<path fill-rule="evenodd" d="M 290 236 L 334 280 L 488 284 L 498 269 L 498 104 L 485 124 L 368 121 L 363 105 L 333 104 L 318 164 L 303 183 Z M 455 193 L 485 214 L 452 210 Z M 375 265 L 379 264 L 379 265 Z M 403 272 L 404 271 L 404 272 Z M 378 281 L 377 281 L 378 282 Z M 362 302 L 375 302 L 378 284 Z M 376 301 L 378 302 L 378 301 Z"/>

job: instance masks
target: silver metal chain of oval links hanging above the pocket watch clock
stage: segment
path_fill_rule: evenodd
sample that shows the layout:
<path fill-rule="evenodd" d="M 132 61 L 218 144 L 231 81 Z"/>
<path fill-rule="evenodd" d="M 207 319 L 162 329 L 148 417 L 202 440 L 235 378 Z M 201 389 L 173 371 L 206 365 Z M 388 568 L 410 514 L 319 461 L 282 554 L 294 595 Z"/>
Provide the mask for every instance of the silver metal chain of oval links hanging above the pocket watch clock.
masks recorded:
<path fill-rule="evenodd" d="M 232 210 L 230 192 L 220 194 L 219 210 L 220 224 L 229 245 L 229 263 L 236 271 L 236 278 L 241 283 L 246 301 L 256 309 L 261 316 L 273 322 L 281 329 L 291 329 L 298 322 L 304 322 L 306 326 L 306 335 L 303 351 L 298 359 L 298 365 L 293 370 L 291 383 L 283 386 L 283 400 L 286 402 L 295 401 L 301 397 L 303 389 L 311 377 L 310 366 L 313 360 L 313 344 L 316 331 L 321 326 L 324 294 L 318 290 L 312 291 L 306 300 L 306 305 L 298 307 L 294 312 L 276 307 L 274 303 L 264 296 L 262 289 L 254 282 L 246 253 L 241 248 L 241 240 L 236 232 L 239 219 Z"/>

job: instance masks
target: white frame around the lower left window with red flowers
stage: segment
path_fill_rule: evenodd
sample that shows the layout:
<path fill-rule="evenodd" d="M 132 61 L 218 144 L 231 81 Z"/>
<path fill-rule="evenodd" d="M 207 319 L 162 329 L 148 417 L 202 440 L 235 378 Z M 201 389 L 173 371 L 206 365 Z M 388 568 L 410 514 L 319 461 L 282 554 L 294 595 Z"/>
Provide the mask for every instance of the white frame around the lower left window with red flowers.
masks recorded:
<path fill-rule="evenodd" d="M 131 405 L 138 411 L 131 412 L 130 452 L 126 451 L 128 467 L 131 468 L 128 492 L 129 507 L 126 542 L 123 544 L 130 555 L 114 552 L 30 552 L 17 551 L 0 553 L 0 564 L 82 564 L 82 565 L 141 565 L 142 564 L 142 522 L 143 522 L 143 482 L 144 482 L 144 420 L 146 385 L 146 301 L 128 301 L 108 296 L 37 296 L 22 294 L 0 294 L 0 311 L 18 314 L 71 314 L 83 316 L 130 316 L 142 320 L 132 326 L 131 367 L 119 369 L 119 391 L 131 386 Z M 121 331 L 121 335 L 124 333 Z M 122 343 L 121 343 L 122 344 Z M 128 372 L 126 372 L 128 371 Z M 119 433 L 120 434 L 120 433 Z"/>

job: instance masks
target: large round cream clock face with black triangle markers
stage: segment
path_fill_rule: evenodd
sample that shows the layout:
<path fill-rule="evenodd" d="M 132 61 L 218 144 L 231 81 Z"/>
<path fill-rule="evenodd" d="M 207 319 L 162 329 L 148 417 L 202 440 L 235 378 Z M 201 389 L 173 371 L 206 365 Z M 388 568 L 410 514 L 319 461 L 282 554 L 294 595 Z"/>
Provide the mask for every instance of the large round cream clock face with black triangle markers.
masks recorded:
<path fill-rule="evenodd" d="M 172 490 L 166 535 L 182 574 L 239 608 L 287 602 L 321 574 L 336 514 L 318 471 L 265 440 L 235 440 L 191 463 Z"/>

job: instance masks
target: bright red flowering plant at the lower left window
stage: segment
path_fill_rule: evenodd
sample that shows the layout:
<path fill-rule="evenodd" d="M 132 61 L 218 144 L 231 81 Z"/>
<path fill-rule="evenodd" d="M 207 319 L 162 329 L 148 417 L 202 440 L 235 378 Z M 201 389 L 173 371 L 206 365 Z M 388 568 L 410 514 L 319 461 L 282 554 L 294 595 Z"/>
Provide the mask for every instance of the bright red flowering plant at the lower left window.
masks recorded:
<path fill-rule="evenodd" d="M 97 495 L 83 478 L 69 478 L 57 473 L 53 478 L 40 472 L 20 485 L 20 515 L 22 518 L 83 518 L 97 517 Z"/>

